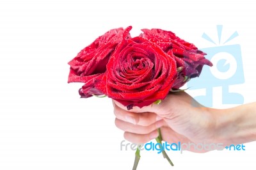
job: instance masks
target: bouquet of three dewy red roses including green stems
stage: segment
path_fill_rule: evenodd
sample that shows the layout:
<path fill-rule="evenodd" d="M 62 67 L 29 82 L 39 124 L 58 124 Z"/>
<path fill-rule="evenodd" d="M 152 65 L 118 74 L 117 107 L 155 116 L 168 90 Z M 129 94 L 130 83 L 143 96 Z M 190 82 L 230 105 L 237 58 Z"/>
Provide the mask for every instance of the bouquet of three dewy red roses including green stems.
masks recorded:
<path fill-rule="evenodd" d="M 159 104 L 171 91 L 194 77 L 204 65 L 212 66 L 205 53 L 171 31 L 142 29 L 134 38 L 126 29 L 111 29 L 72 59 L 68 82 L 84 82 L 82 98 L 107 96 L 127 109 Z M 161 143 L 161 132 L 157 143 Z M 159 145 L 161 147 L 161 145 Z M 173 166 L 163 150 L 164 158 Z M 140 160 L 136 151 L 134 168 Z"/>

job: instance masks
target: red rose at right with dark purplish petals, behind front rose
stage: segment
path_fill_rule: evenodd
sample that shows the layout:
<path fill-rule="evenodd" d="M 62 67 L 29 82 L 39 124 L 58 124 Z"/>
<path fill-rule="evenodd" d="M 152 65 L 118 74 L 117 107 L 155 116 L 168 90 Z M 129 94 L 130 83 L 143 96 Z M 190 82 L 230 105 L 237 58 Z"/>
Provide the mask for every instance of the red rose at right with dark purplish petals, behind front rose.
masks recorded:
<path fill-rule="evenodd" d="M 162 29 L 142 29 L 140 35 L 147 38 L 150 42 L 154 42 L 169 56 L 173 56 L 177 62 L 179 70 L 177 80 L 172 88 L 179 89 L 189 79 L 198 77 L 204 65 L 212 66 L 211 61 L 205 59 L 205 53 L 193 44 L 180 39 L 171 31 Z"/>

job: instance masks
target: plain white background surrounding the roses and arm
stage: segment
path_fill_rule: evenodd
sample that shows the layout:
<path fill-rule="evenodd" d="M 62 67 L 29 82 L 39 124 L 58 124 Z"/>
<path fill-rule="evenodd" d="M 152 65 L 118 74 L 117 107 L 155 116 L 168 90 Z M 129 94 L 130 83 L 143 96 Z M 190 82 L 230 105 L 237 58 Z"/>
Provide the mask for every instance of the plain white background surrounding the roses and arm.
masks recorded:
<path fill-rule="evenodd" d="M 196 46 L 212 47 L 239 33 L 245 83 L 233 89 L 255 101 L 253 1 L 0 1 L 0 169 L 131 169 L 134 151 L 120 151 L 109 98 L 81 99 L 83 85 L 68 84 L 68 61 L 115 27 L 173 31 Z M 192 92 L 191 92 L 192 93 Z M 218 91 L 214 97 L 218 98 Z M 217 100 L 218 101 L 218 100 Z M 216 107 L 225 107 L 215 105 Z M 143 151 L 138 169 L 255 169 L 256 146 L 246 151 L 168 153 Z"/>

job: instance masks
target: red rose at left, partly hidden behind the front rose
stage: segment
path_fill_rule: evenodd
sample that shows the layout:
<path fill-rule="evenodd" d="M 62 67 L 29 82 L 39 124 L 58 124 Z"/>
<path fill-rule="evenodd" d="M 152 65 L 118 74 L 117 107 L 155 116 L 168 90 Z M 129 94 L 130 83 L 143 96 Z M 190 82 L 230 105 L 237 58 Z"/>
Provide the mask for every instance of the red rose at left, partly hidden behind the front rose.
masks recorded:
<path fill-rule="evenodd" d="M 103 95 L 102 91 L 95 88 L 95 84 L 100 83 L 103 73 L 106 72 L 106 65 L 113 54 L 116 45 L 122 41 L 123 28 L 111 29 L 102 36 L 99 36 L 88 47 L 79 52 L 76 58 L 72 59 L 68 82 L 84 82 L 84 86 L 79 89 L 79 94 L 83 98 L 92 95 Z M 130 35 L 127 35 L 130 37 Z"/>

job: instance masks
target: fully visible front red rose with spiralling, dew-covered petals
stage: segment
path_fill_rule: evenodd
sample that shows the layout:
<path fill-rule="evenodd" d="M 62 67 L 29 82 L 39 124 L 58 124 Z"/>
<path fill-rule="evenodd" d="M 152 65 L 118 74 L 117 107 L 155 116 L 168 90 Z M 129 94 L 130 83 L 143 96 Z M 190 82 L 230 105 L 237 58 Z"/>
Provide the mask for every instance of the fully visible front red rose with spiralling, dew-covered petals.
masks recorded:
<path fill-rule="evenodd" d="M 106 84 L 97 88 L 131 109 L 132 106 L 143 107 L 163 100 L 176 76 L 175 59 L 155 43 L 137 36 L 124 38 L 116 47 L 103 77 Z"/>

